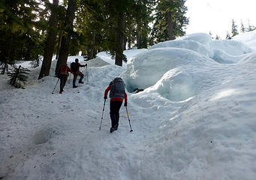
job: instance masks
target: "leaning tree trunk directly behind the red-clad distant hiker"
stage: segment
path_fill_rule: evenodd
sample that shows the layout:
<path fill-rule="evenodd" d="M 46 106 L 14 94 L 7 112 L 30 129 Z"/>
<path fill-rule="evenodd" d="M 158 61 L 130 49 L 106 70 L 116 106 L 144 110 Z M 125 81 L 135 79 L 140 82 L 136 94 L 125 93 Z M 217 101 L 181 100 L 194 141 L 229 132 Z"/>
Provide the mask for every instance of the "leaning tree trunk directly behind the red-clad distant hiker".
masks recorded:
<path fill-rule="evenodd" d="M 69 0 L 68 1 L 68 9 L 65 18 L 65 31 L 62 35 L 62 43 L 59 49 L 59 58 L 56 65 L 55 73 L 57 74 L 59 71 L 59 67 L 65 65 L 68 60 L 68 49 L 69 42 L 71 40 L 71 32 L 73 31 L 73 22 L 75 11 L 77 10 L 77 0 Z"/>

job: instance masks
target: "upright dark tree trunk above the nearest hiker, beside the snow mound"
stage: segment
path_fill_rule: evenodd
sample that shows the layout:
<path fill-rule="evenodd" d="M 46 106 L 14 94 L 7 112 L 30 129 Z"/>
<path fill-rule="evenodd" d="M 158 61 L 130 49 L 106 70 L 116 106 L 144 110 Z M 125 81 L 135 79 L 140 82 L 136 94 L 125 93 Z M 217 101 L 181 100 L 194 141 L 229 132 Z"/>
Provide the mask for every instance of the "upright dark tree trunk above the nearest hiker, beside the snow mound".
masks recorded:
<path fill-rule="evenodd" d="M 125 21 L 124 21 L 124 13 L 119 13 L 118 19 L 117 19 L 117 27 L 116 27 L 116 61 L 115 65 L 122 66 L 122 60 L 125 58 L 125 55 L 123 55 L 123 43 L 124 43 L 124 34 L 123 30 L 125 28 Z"/>

